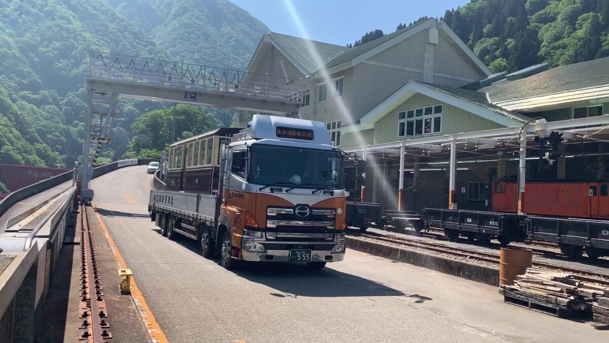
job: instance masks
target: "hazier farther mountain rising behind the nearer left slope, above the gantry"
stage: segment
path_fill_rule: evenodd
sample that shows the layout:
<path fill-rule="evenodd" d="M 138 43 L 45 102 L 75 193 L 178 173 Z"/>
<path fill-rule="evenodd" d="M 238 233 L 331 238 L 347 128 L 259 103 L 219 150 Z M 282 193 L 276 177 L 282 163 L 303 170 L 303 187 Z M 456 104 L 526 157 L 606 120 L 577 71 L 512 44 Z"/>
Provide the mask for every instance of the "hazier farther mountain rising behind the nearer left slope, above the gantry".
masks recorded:
<path fill-rule="evenodd" d="M 108 0 L 172 58 L 244 70 L 269 28 L 228 0 Z"/>

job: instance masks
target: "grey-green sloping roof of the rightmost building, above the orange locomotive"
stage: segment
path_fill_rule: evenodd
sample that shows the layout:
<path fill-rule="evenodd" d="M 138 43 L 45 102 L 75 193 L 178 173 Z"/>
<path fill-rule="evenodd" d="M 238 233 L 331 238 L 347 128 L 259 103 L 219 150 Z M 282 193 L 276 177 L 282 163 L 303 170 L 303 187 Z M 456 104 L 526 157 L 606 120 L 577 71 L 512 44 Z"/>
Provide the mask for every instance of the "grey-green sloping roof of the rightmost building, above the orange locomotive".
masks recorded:
<path fill-rule="evenodd" d="M 543 71 L 528 78 L 502 80 L 481 88 L 493 103 L 568 92 L 609 84 L 609 57 Z"/>

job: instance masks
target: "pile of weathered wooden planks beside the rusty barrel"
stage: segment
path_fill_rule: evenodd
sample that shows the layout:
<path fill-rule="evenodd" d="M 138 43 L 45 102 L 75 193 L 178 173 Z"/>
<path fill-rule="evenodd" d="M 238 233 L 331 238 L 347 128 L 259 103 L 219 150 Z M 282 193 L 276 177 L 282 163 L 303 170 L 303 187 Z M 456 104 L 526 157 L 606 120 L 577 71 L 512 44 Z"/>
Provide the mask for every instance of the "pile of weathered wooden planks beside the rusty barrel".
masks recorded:
<path fill-rule="evenodd" d="M 595 321 L 609 325 L 609 288 L 579 280 L 576 275 L 527 268 L 513 286 L 499 287 L 506 302 L 557 317 L 590 316 L 596 311 Z"/>

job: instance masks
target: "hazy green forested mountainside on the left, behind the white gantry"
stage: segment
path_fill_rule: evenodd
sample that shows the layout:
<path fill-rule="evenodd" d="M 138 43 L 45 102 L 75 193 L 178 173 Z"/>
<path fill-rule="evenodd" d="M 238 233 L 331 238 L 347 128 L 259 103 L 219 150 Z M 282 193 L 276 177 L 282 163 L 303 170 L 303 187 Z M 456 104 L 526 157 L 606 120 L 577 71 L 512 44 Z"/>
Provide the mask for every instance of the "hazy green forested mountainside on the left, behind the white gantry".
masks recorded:
<path fill-rule="evenodd" d="M 82 154 L 91 49 L 244 68 L 266 31 L 228 0 L 0 0 L 0 163 L 72 165 Z M 105 160 L 132 146 L 136 118 L 167 106 L 121 101 Z M 225 120 L 201 110 L 206 123 Z"/>

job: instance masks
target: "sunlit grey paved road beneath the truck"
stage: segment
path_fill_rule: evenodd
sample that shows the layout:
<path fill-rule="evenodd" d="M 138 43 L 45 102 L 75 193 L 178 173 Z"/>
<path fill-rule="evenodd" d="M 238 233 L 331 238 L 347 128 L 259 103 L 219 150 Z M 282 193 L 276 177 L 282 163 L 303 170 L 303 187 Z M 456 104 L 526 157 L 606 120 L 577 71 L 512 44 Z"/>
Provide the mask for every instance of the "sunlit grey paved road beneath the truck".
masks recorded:
<path fill-rule="evenodd" d="M 224 270 L 158 233 L 145 170 L 94 179 L 94 204 L 170 342 L 607 342 L 589 323 L 504 304 L 495 287 L 357 251 L 317 272 Z"/>

